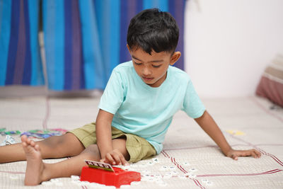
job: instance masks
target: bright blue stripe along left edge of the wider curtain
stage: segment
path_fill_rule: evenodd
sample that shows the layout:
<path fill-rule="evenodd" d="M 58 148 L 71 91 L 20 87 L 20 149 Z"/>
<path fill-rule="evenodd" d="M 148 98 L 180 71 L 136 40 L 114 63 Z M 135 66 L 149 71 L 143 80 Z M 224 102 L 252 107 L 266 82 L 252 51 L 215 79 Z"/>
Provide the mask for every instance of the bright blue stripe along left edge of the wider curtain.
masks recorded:
<path fill-rule="evenodd" d="M 42 1 L 42 25 L 48 88 L 64 88 L 64 1 Z"/>

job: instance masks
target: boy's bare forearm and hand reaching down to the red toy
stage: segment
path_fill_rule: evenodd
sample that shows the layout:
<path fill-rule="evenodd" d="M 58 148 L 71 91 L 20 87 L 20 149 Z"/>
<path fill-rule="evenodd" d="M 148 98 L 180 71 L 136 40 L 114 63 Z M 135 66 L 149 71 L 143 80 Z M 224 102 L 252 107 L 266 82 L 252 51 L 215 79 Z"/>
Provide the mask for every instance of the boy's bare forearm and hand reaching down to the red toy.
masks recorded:
<path fill-rule="evenodd" d="M 100 158 L 110 164 L 127 164 L 125 157 L 117 149 L 112 147 L 111 123 L 113 114 L 99 110 L 96 118 L 96 139 Z"/>

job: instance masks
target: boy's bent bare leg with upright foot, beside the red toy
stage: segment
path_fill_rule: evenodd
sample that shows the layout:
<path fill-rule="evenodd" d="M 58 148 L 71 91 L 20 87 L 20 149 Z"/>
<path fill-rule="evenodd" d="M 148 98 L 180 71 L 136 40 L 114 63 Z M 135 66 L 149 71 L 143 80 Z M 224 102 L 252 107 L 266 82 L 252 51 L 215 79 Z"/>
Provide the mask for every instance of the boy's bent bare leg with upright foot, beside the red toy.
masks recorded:
<path fill-rule="evenodd" d="M 27 168 L 25 172 L 25 185 L 38 185 L 42 181 L 49 181 L 51 178 L 79 176 L 81 168 L 86 166 L 84 159 L 99 161 L 100 153 L 96 144 L 92 144 L 81 152 L 78 156 L 71 159 L 60 161 L 56 164 L 45 164 L 42 162 L 41 150 L 39 145 L 30 141 L 25 136 L 22 138 L 23 150 L 26 154 Z M 126 149 L 125 139 L 113 139 L 112 146 L 129 159 Z"/>

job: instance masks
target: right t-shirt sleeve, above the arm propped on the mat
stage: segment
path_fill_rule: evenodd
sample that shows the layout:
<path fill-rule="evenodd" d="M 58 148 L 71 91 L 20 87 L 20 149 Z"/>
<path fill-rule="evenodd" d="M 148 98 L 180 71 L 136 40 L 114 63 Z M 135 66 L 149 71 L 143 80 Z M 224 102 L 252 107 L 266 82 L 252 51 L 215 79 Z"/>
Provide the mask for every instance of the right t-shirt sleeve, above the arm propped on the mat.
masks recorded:
<path fill-rule="evenodd" d="M 200 101 L 200 97 L 197 95 L 194 86 L 192 86 L 192 81 L 188 81 L 187 90 L 185 93 L 183 110 L 190 118 L 200 118 L 205 110 L 205 107 Z"/>

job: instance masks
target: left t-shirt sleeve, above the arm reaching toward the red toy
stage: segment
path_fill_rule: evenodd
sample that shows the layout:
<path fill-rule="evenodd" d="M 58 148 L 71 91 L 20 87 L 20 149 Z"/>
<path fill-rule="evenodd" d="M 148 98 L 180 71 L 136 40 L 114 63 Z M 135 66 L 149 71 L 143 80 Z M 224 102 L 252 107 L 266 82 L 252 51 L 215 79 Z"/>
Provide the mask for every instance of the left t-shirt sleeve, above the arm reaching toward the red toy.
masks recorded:
<path fill-rule="evenodd" d="M 124 86 L 119 71 L 114 69 L 100 98 L 98 108 L 108 113 L 115 114 L 124 99 Z"/>

